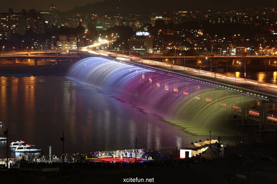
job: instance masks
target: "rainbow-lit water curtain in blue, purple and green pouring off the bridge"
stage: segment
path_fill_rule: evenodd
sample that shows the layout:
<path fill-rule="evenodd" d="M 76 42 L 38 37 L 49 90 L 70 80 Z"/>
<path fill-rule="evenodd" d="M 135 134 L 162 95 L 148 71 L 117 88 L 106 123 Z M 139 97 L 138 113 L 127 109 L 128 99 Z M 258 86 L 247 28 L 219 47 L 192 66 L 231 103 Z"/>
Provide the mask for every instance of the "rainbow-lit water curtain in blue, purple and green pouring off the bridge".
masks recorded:
<path fill-rule="evenodd" d="M 97 87 L 197 135 L 207 135 L 211 129 L 218 135 L 233 135 L 229 128 L 224 127 L 226 117 L 232 117 L 232 106 L 253 100 L 230 91 L 97 57 L 74 64 L 68 77 Z"/>

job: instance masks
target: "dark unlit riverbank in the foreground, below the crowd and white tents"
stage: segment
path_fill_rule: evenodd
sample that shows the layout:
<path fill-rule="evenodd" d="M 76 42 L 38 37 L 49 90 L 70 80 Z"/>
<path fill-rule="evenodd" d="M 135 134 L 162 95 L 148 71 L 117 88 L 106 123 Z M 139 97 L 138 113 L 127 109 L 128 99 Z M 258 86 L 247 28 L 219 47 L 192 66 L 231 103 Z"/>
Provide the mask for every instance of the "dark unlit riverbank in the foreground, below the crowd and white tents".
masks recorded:
<path fill-rule="evenodd" d="M 12 183 L 275 183 L 277 167 L 271 156 L 275 151 L 269 144 L 254 144 L 228 147 L 220 160 L 206 160 L 198 155 L 140 163 L 93 162 L 78 154 L 78 159 L 64 165 L 30 163 L 26 170 L 0 169 L 0 177 L 3 182 Z M 269 156 L 273 161 L 259 159 L 260 156 Z"/>

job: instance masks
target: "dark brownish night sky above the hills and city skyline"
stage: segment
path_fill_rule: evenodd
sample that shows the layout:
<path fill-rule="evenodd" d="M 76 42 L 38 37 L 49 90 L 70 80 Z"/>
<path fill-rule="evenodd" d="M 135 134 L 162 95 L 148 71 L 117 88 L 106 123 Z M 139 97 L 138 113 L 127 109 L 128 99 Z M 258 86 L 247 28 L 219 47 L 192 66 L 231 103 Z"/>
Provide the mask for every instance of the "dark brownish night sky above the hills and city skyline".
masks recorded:
<path fill-rule="evenodd" d="M 87 4 L 94 4 L 96 2 L 103 2 L 104 0 L 58 0 L 58 1 L 41 1 L 41 0 L 5 0 L 1 2 L 0 12 L 8 12 L 9 8 L 12 8 L 14 12 L 20 12 L 21 10 L 42 10 L 46 11 L 49 9 L 49 6 L 53 3 L 56 8 L 59 8 L 60 12 L 65 12 L 67 10 L 72 10 L 75 7 L 86 6 Z M 116 2 L 119 0 L 106 0 L 110 2 Z M 277 7 L 276 0 L 232 0 L 232 1 L 219 1 L 219 0 L 120 0 L 121 4 L 126 4 L 125 7 L 140 7 L 151 6 L 157 9 L 166 10 L 201 10 L 201 9 L 213 9 L 213 8 L 246 8 L 246 7 Z M 143 9 L 142 9 L 143 11 Z"/>

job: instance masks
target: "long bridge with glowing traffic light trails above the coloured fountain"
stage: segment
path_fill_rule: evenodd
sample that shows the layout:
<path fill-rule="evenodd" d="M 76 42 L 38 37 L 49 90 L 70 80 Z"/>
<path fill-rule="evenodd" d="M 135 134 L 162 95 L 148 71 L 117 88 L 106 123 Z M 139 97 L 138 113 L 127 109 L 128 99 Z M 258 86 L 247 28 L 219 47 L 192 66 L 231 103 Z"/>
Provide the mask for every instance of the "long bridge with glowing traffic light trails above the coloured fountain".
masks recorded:
<path fill-rule="evenodd" d="M 243 96 L 252 97 L 255 99 L 255 102 L 251 102 L 251 104 L 245 103 L 241 104 L 241 106 L 230 104 L 229 107 L 225 107 L 225 109 L 229 109 L 227 113 L 239 114 L 241 116 L 242 124 L 247 124 L 248 119 L 258 121 L 259 129 L 263 129 L 265 125 L 277 127 L 277 114 L 274 114 L 275 106 L 277 105 L 277 94 L 275 93 L 277 85 L 246 78 L 238 78 L 236 76 L 229 76 L 216 71 L 204 71 L 200 68 L 195 69 L 180 65 L 173 65 L 172 63 L 164 63 L 107 51 L 96 52 L 80 50 L 79 54 L 83 55 L 82 57 L 103 57 L 117 62 L 197 82 L 203 85 L 209 85 L 211 87 L 231 91 Z M 217 100 L 205 98 L 205 101 L 216 102 Z"/>

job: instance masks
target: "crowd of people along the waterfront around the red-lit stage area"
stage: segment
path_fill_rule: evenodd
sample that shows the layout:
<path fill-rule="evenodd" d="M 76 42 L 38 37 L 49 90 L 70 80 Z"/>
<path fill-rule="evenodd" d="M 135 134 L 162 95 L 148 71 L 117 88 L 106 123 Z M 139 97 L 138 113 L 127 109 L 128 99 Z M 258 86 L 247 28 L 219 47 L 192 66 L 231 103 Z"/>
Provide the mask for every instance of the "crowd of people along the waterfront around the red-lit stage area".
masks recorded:
<path fill-rule="evenodd" d="M 136 151 L 136 152 L 135 152 Z M 105 151 L 105 152 L 89 152 L 89 153 L 74 153 L 74 154 L 65 154 L 63 155 L 52 155 L 49 156 L 32 156 L 25 155 L 21 158 L 10 159 L 9 168 L 30 168 L 30 169 L 41 169 L 41 168 L 51 168 L 51 167 L 60 167 L 60 168 L 124 168 L 132 167 L 134 164 L 137 166 L 165 166 L 170 164 L 181 164 L 186 165 L 188 159 L 176 159 L 172 157 L 159 158 L 159 153 L 157 149 L 137 149 L 137 150 L 117 150 L 117 151 Z M 142 161 L 134 160 L 130 161 L 123 158 L 134 158 L 135 154 L 137 157 L 144 158 Z M 90 158 L 99 158 L 99 157 L 110 157 L 110 161 L 95 162 Z M 119 157 L 120 161 L 115 161 L 112 158 Z M 154 158 L 157 159 L 148 159 Z M 122 158 L 122 159 L 121 159 Z M 1 161 L 1 160 L 0 160 Z M 6 159 L 2 159 L 0 162 L 0 168 L 6 167 Z"/>

